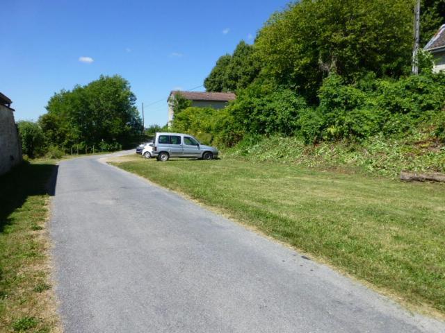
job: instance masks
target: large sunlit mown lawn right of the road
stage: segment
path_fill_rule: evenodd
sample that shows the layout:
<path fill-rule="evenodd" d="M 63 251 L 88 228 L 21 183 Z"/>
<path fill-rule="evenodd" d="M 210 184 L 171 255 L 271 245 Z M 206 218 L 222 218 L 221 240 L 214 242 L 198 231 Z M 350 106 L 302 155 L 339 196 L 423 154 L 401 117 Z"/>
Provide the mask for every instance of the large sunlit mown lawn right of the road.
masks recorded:
<path fill-rule="evenodd" d="M 443 318 L 445 186 L 238 159 L 112 162 Z"/>

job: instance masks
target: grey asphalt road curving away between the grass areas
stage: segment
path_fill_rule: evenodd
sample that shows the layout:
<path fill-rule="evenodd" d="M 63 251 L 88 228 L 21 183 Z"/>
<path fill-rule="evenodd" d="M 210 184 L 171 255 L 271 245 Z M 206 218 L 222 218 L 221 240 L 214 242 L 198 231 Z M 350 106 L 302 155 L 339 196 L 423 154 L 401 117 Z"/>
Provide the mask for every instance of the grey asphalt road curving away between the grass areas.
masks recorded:
<path fill-rule="evenodd" d="M 58 168 L 50 228 L 65 332 L 445 332 L 102 157 Z"/>

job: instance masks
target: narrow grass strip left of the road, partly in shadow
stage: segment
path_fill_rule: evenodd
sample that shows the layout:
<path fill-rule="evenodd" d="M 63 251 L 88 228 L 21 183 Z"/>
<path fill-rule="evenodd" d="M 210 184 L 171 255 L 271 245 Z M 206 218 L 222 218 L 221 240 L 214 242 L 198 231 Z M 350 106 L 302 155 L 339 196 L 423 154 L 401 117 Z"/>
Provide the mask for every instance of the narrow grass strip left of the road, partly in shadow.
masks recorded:
<path fill-rule="evenodd" d="M 54 161 L 0 176 L 0 332 L 59 332 L 51 290 L 49 214 Z"/>

